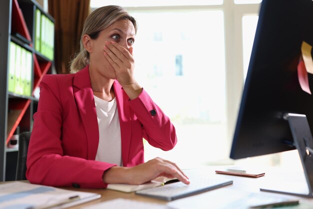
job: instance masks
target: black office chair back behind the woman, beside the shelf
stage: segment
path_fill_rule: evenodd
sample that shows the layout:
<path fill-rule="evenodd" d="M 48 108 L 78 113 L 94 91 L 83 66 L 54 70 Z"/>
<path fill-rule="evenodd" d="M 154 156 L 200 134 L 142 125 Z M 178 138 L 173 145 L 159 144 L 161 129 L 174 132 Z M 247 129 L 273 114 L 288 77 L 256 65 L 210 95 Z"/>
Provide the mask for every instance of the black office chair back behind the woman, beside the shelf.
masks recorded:
<path fill-rule="evenodd" d="M 30 131 L 21 132 L 18 138 L 18 156 L 15 180 L 26 180 L 26 159 L 30 138 Z"/>

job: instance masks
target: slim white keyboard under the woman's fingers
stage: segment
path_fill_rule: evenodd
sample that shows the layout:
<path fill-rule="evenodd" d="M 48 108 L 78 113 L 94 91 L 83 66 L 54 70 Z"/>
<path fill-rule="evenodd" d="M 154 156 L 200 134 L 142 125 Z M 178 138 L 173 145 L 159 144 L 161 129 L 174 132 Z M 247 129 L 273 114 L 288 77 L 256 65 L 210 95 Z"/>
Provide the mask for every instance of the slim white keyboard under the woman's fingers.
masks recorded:
<path fill-rule="evenodd" d="M 174 200 L 202 191 L 219 188 L 231 183 L 232 180 L 229 179 L 197 177 L 190 179 L 189 185 L 186 185 L 182 182 L 175 182 L 154 188 L 138 190 L 135 193 L 159 199 Z"/>

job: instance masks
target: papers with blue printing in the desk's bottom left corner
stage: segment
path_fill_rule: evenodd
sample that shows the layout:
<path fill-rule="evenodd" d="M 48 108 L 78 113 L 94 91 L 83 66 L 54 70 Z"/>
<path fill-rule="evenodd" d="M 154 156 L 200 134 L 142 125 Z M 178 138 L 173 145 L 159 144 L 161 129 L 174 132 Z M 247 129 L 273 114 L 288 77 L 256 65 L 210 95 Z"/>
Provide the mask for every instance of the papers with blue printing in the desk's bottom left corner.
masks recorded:
<path fill-rule="evenodd" d="M 100 198 L 97 193 L 71 191 L 23 182 L 0 184 L 0 208 L 65 208 Z"/>

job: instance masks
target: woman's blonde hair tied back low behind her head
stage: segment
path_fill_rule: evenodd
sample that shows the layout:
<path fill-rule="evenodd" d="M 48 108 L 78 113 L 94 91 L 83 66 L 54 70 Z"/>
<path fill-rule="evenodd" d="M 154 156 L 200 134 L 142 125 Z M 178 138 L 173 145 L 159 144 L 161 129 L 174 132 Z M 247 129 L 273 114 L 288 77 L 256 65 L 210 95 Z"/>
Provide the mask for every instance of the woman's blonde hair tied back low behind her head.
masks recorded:
<path fill-rule="evenodd" d="M 135 28 L 135 32 L 137 32 L 136 20 L 121 6 L 102 6 L 95 9 L 87 16 L 80 36 L 80 50 L 75 54 L 74 59 L 70 61 L 70 73 L 78 72 L 89 64 L 89 52 L 83 47 L 82 36 L 87 34 L 92 39 L 96 39 L 103 29 L 120 19 L 130 20 Z"/>

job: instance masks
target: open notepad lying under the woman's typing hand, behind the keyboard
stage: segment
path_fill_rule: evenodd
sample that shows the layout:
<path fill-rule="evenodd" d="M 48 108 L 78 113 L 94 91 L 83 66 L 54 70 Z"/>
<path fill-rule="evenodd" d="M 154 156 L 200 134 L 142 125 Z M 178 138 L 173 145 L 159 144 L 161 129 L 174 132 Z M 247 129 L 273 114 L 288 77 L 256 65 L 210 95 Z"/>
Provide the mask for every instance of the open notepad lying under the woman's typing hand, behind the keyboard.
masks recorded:
<path fill-rule="evenodd" d="M 169 182 L 171 180 L 175 180 L 177 178 L 167 178 L 164 176 L 159 176 L 154 178 L 153 180 L 138 184 L 138 185 L 132 185 L 132 184 L 126 184 L 126 183 L 110 183 L 107 185 L 107 189 L 110 190 L 116 190 L 116 191 L 122 191 L 122 192 L 133 192 L 145 188 L 153 188 L 156 186 L 164 185 L 164 183 Z"/>

